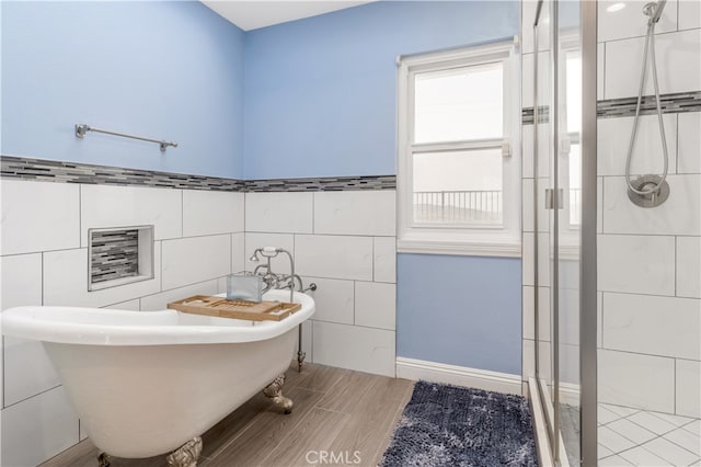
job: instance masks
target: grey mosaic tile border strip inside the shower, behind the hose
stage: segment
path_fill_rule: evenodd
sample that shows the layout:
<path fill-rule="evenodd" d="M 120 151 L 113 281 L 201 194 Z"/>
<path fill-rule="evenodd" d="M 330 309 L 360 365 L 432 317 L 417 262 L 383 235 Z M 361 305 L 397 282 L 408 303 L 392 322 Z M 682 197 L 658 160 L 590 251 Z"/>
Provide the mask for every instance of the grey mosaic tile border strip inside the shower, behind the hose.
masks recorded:
<path fill-rule="evenodd" d="M 614 118 L 635 116 L 637 98 L 608 99 L 597 102 L 597 118 Z M 701 112 L 701 91 L 678 92 L 675 94 L 663 94 L 659 96 L 659 106 L 663 114 L 676 114 L 682 112 Z M 641 102 L 641 115 L 652 115 L 657 113 L 657 103 L 654 95 L 644 95 Z M 549 119 L 549 107 L 540 107 L 539 122 L 547 123 Z M 521 110 L 521 124 L 533 124 L 533 107 Z"/>

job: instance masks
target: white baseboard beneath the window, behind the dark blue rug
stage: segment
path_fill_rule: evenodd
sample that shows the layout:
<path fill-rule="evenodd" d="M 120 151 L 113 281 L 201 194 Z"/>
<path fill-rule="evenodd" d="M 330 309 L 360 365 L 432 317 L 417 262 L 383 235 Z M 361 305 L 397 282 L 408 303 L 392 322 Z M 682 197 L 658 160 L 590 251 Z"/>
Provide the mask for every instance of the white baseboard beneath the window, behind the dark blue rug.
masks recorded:
<path fill-rule="evenodd" d="M 397 377 L 521 395 L 520 375 L 397 357 Z"/>

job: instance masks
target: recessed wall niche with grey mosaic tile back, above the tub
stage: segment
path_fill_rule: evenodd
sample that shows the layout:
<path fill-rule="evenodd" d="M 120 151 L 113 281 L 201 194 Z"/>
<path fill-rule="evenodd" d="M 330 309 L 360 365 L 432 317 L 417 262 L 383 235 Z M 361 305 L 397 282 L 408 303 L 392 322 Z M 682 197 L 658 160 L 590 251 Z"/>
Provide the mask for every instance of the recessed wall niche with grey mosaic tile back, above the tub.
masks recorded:
<path fill-rule="evenodd" d="M 89 229 L 89 291 L 153 278 L 153 227 Z"/>

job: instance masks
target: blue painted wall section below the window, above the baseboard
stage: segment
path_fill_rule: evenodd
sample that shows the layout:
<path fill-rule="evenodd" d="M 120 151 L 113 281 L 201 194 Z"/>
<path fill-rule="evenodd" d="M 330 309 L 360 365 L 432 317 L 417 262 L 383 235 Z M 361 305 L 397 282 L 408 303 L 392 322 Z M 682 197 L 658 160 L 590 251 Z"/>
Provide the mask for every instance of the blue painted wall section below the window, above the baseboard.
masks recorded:
<path fill-rule="evenodd" d="M 521 374 L 521 261 L 399 254 L 397 354 Z"/>

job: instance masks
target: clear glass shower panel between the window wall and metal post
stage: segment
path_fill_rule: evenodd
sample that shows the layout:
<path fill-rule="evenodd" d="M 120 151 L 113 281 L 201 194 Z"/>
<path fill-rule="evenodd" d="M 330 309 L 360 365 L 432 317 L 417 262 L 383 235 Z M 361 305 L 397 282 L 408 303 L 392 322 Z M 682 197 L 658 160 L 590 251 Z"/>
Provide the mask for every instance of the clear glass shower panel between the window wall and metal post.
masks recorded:
<path fill-rule="evenodd" d="M 581 463 L 579 2 L 543 0 L 535 24 L 537 380 L 553 459 Z"/>

